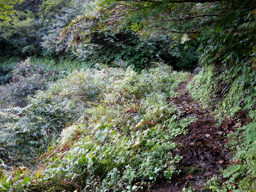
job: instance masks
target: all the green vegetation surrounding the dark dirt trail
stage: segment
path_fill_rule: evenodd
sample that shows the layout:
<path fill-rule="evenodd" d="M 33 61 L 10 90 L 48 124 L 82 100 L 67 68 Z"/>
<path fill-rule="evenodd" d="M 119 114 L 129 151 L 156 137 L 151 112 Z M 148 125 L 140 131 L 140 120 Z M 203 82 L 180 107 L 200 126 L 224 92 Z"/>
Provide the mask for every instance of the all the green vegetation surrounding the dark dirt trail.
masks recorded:
<path fill-rule="evenodd" d="M 187 88 L 234 155 L 208 190 L 255 191 L 255 21 L 253 0 L 0 0 L 0 190 L 177 176 L 173 140 L 196 119 L 167 98 L 199 64 Z"/>

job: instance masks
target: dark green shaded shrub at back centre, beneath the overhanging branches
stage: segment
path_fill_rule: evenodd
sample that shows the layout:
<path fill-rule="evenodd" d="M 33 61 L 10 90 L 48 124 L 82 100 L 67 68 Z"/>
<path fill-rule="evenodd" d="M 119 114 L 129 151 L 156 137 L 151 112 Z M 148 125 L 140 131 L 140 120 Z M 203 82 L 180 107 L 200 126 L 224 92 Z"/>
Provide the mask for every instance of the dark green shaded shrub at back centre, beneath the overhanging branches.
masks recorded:
<path fill-rule="evenodd" d="M 156 40 L 141 38 L 131 30 L 111 33 L 98 32 L 92 37 L 90 44 L 80 44 L 76 54 L 82 60 L 111 64 L 113 61 L 122 59 L 133 64 L 136 70 L 145 68 L 152 58 L 156 58 Z M 114 66 L 115 67 L 115 66 Z"/>

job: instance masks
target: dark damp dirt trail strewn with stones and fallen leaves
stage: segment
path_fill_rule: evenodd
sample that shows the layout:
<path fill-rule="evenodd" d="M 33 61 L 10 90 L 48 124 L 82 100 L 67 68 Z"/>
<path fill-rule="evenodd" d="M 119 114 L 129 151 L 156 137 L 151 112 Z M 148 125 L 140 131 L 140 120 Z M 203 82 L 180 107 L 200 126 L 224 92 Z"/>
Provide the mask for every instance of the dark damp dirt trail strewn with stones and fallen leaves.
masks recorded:
<path fill-rule="evenodd" d="M 179 176 L 174 176 L 171 183 L 159 180 L 152 186 L 152 192 L 179 192 L 184 187 L 194 187 L 196 191 L 203 190 L 204 184 L 214 174 L 219 175 L 220 169 L 230 164 L 232 154 L 228 153 L 224 144 L 227 142 L 227 130 L 215 126 L 216 120 L 209 110 L 202 110 L 199 102 L 190 97 L 187 84 L 193 79 L 180 84 L 177 98 L 169 99 L 182 110 L 182 117 L 196 117 L 198 120 L 191 124 L 188 134 L 180 136 L 175 142 L 182 146 L 174 151 L 174 155 L 183 156 Z"/>

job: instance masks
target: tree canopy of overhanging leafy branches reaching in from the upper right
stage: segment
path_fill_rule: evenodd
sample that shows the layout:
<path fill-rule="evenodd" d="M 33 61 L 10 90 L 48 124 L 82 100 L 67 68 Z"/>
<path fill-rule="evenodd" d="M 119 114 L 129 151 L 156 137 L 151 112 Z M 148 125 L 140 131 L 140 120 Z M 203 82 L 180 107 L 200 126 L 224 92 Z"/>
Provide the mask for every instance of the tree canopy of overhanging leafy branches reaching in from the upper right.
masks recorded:
<path fill-rule="evenodd" d="M 204 64 L 238 64 L 255 54 L 255 20 L 254 0 L 104 0 L 94 14 L 73 20 L 62 36 L 74 46 L 90 42 L 97 31 L 129 28 L 142 36 L 172 36 L 172 46 L 188 35 L 201 42 Z"/>

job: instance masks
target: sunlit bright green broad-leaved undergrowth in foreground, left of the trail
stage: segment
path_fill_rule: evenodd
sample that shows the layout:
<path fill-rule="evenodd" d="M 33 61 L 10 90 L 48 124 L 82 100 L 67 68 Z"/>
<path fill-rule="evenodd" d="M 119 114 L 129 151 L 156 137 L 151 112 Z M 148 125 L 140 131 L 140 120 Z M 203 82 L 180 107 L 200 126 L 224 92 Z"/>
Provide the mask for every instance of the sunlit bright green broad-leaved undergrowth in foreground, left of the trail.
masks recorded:
<path fill-rule="evenodd" d="M 154 179 L 160 176 L 161 170 L 166 170 L 166 173 L 175 172 L 172 164 L 180 160 L 179 157 L 173 158 L 170 152 L 175 148 L 175 144 L 155 144 L 153 148 L 148 146 L 148 150 L 143 152 L 142 143 L 146 142 L 147 137 L 148 131 L 126 137 L 112 130 L 111 124 L 95 124 L 63 158 L 62 154 L 57 154 L 55 158 L 59 160 L 54 160 L 52 166 L 44 172 L 52 178 L 78 176 L 80 181 L 84 180 L 81 183 L 85 187 L 84 191 L 111 188 L 114 191 L 122 191 L 132 185 L 135 178 Z M 70 164 L 73 162 L 75 166 Z M 58 167 L 64 167 L 63 171 L 56 172 Z"/>

